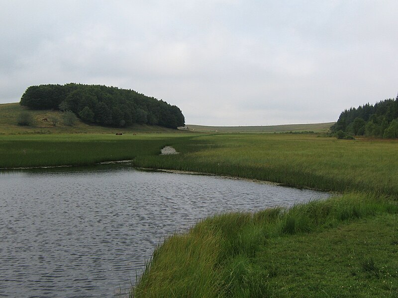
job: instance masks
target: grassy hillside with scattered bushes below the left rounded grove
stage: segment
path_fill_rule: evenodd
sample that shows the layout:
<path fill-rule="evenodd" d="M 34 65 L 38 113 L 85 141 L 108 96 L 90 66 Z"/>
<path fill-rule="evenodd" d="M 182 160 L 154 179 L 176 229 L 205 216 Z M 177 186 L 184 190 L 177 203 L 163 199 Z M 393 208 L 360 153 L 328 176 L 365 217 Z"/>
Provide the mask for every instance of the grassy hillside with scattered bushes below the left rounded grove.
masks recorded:
<path fill-rule="evenodd" d="M 21 112 L 28 111 L 33 117 L 31 126 L 19 126 L 18 116 Z M 42 118 L 57 117 L 59 122 L 53 126 L 51 121 L 41 121 Z M 62 121 L 62 112 L 54 110 L 28 110 L 19 103 L 0 104 L 0 134 L 82 134 L 82 133 L 176 133 L 174 129 L 159 126 L 133 125 L 127 128 L 102 127 L 88 125 L 78 119 L 73 126 L 66 126 Z"/>

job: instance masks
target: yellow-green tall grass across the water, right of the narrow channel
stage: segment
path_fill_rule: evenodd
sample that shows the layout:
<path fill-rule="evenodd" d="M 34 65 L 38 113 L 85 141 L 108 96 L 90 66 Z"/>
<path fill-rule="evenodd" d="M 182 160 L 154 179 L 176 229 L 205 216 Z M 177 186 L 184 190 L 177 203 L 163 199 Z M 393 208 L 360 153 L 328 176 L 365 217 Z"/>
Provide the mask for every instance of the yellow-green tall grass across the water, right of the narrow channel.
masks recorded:
<path fill-rule="evenodd" d="M 183 154 L 142 155 L 139 166 L 268 180 L 326 191 L 398 196 L 398 142 L 295 135 L 211 135 L 171 143 Z"/>

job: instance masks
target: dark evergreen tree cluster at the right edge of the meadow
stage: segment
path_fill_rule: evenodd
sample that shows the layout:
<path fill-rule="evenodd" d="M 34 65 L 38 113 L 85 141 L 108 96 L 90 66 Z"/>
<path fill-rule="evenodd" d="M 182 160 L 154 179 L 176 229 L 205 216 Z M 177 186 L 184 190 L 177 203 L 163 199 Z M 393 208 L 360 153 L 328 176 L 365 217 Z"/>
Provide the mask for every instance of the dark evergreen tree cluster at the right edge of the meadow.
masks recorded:
<path fill-rule="evenodd" d="M 398 95 L 371 105 L 350 108 L 340 114 L 332 133 L 355 136 L 398 138 Z"/>

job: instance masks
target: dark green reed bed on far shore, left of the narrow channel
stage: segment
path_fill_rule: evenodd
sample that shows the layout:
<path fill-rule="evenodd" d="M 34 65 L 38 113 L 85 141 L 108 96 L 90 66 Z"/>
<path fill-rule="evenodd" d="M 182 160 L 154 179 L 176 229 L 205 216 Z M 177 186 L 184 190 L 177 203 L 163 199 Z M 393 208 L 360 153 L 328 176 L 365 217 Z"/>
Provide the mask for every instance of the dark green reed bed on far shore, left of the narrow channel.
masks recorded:
<path fill-rule="evenodd" d="M 0 136 L 0 168 L 89 165 L 158 155 L 178 135 Z"/>

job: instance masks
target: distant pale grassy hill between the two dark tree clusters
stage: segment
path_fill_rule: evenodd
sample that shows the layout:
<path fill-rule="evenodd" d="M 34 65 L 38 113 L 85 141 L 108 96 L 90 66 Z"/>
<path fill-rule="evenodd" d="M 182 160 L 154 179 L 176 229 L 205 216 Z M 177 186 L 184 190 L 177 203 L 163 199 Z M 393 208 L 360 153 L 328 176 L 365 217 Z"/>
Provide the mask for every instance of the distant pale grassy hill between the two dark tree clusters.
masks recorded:
<path fill-rule="evenodd" d="M 203 126 L 186 125 L 185 129 L 199 132 L 220 132 L 220 133 L 284 133 L 284 132 L 304 132 L 312 131 L 315 133 L 325 133 L 335 122 L 315 123 L 315 124 L 289 124 L 289 125 L 270 125 L 270 126 Z M 183 128 L 180 128 L 183 129 Z"/>

